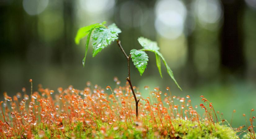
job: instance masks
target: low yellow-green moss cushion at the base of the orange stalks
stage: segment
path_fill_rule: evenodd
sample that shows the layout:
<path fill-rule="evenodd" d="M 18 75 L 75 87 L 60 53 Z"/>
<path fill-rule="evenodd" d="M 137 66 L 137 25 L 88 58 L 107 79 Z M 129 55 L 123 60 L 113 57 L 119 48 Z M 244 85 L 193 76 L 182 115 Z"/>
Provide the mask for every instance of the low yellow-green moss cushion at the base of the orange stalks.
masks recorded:
<path fill-rule="evenodd" d="M 73 130 L 71 128 L 65 128 L 65 137 L 64 138 L 96 138 L 96 139 L 103 139 L 103 138 L 182 138 L 182 139 L 212 139 L 212 138 L 221 138 L 221 139 L 238 139 L 238 136 L 234 132 L 234 130 L 227 125 L 220 125 L 220 124 L 207 124 L 207 122 L 203 121 L 200 124 L 194 122 L 192 123 L 189 120 L 182 120 L 182 119 L 174 119 L 172 120 L 173 128 L 175 130 L 175 134 L 172 134 L 172 130 L 170 127 L 163 127 L 163 128 L 145 128 L 146 126 L 132 126 L 126 125 L 122 122 L 117 123 L 118 129 L 114 129 L 113 126 L 107 126 L 106 123 L 100 123 L 100 130 L 92 130 L 90 128 L 85 129 L 83 131 L 82 123 L 74 124 Z M 101 128 L 106 128 L 106 131 L 102 131 Z M 167 132 L 165 132 L 165 130 Z M 73 134 L 72 134 L 73 133 Z M 58 133 L 54 133 L 54 138 Z M 49 130 L 45 130 L 45 136 L 48 138 L 50 137 Z M 38 135 L 35 135 L 35 138 L 39 138 Z M 248 138 L 245 136 L 243 138 Z"/>

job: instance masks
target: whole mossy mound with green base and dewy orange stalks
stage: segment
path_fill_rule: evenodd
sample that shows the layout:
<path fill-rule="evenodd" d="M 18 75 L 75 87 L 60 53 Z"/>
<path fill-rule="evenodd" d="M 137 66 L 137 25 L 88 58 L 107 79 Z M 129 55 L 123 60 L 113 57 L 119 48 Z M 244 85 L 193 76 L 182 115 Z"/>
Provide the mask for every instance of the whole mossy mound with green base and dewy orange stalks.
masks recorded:
<path fill-rule="evenodd" d="M 129 83 L 113 89 L 86 84 L 83 90 L 68 86 L 66 89 L 59 87 L 56 92 L 39 85 L 30 96 L 25 92 L 13 97 L 4 93 L 0 138 L 148 138 L 152 135 L 156 138 L 238 138 L 236 132 L 255 138 L 254 116 L 246 130 L 243 130 L 245 126 L 233 130 L 223 123 L 218 124 L 213 103 L 204 98 L 205 104 L 200 106 L 205 115 L 200 116 L 189 95 L 173 96 L 169 88 L 161 91 L 156 87 L 150 91 L 145 86 L 150 97 L 143 98 L 134 86 L 141 101 L 140 117 L 136 119 L 136 103 Z M 209 131 L 208 134 L 205 131 Z"/>

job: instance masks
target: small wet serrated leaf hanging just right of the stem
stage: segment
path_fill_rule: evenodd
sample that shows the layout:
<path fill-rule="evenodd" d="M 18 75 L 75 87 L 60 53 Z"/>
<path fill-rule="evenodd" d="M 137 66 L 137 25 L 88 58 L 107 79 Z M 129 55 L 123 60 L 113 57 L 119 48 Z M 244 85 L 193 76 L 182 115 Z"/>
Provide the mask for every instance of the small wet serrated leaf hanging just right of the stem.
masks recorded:
<path fill-rule="evenodd" d="M 132 49 L 130 51 L 133 64 L 138 69 L 140 75 L 144 73 L 147 66 L 148 55 L 144 51 Z"/>

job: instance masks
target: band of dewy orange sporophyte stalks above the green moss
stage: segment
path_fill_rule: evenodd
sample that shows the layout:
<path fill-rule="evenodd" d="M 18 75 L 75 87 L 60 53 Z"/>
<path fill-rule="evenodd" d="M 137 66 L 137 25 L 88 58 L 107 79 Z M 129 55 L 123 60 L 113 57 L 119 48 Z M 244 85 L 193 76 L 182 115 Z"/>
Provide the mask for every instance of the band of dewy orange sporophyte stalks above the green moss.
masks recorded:
<path fill-rule="evenodd" d="M 164 125 L 172 126 L 171 120 L 177 118 L 195 121 L 200 127 L 199 116 L 195 111 L 197 106 L 192 106 L 190 96 L 187 95 L 183 98 L 172 95 L 169 87 L 166 87 L 162 95 L 162 91 L 158 87 L 151 91 L 149 86 L 145 86 L 144 89 L 148 91 L 146 94 L 148 97 L 144 99 L 139 88 L 133 86 L 136 96 L 140 100 L 138 104 L 139 118 L 136 119 L 135 101 L 130 86 L 128 82 L 125 86 L 120 86 L 121 82 L 117 77 L 114 78 L 116 84 L 114 89 L 110 86 L 103 89 L 87 82 L 87 87 L 83 90 L 74 89 L 70 85 L 66 89 L 59 87 L 58 93 L 54 93 L 48 88 L 44 89 L 42 85 L 38 85 L 38 90 L 32 92 L 32 80 L 30 82 L 31 91 L 22 88 L 23 97 L 21 93 L 17 93 L 13 97 L 4 93 L 5 100 L 1 101 L 4 110 L 1 107 L 3 120 L 0 120 L 2 125 L 0 129 L 6 137 L 14 135 L 32 137 L 32 131 L 38 126 L 40 137 L 44 136 L 42 129 L 46 126 L 51 133 L 57 130 L 59 134 L 65 134 L 65 128 L 73 129 L 78 122 L 82 123 L 82 130 L 92 128 L 92 130 L 101 130 L 102 132 L 106 132 L 106 129 L 109 128 L 117 130 L 119 122 L 123 122 L 127 126 L 133 125 L 135 122 L 138 126 L 146 126 L 143 128 L 145 130 L 149 127 L 157 129 Z M 174 104 L 175 99 L 177 104 Z M 207 100 L 207 102 L 209 101 Z M 7 104 L 10 104 L 11 109 Z M 212 122 L 217 117 L 212 114 L 214 111 L 212 103 L 209 102 L 208 105 L 208 111 L 211 112 L 206 112 L 205 118 Z M 200 106 L 206 109 L 206 107 Z M 99 127 L 99 121 L 107 123 L 107 126 Z"/>

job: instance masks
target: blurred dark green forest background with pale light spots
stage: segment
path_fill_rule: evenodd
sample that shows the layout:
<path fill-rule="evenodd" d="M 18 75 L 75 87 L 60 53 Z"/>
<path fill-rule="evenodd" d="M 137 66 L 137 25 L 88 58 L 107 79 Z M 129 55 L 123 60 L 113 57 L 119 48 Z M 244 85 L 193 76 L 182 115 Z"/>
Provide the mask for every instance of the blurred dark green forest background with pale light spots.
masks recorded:
<path fill-rule="evenodd" d="M 245 124 L 243 113 L 248 117 L 256 109 L 255 0 L 0 0 L 0 13 L 1 94 L 29 89 L 30 78 L 34 87 L 41 83 L 53 90 L 83 89 L 87 81 L 114 87 L 115 76 L 124 85 L 127 63 L 116 42 L 95 58 L 90 44 L 84 68 L 85 39 L 74 43 L 80 27 L 106 20 L 122 30 L 126 53 L 141 48 L 140 36 L 157 41 L 183 89 L 164 66 L 160 78 L 155 56 L 148 53 L 142 76 L 131 65 L 132 83 L 142 96 L 148 96 L 144 86 L 169 86 L 174 95 L 190 95 L 193 105 L 204 95 L 229 121 L 236 109 L 234 127 Z"/>

